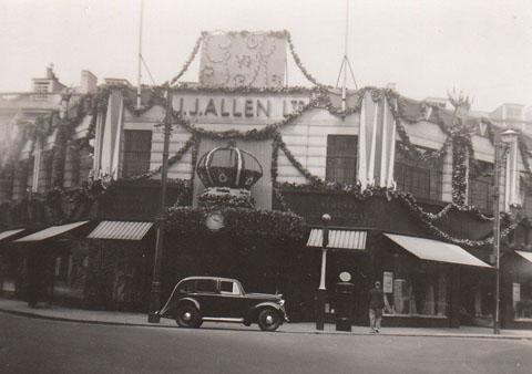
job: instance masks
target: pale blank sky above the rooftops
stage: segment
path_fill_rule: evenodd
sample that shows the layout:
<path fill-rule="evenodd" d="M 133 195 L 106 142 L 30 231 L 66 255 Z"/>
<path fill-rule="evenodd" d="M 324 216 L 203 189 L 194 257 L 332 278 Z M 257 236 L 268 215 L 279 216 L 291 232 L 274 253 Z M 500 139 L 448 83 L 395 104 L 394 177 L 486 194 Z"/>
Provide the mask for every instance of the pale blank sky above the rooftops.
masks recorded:
<path fill-rule="evenodd" d="M 50 63 L 66 85 L 79 85 L 81 70 L 100 82 L 124 77 L 135 84 L 140 4 L 0 0 L 0 92 L 30 90 Z M 346 0 L 144 0 L 142 54 L 161 84 L 181 70 L 201 31 L 284 29 L 306 69 L 335 85 L 345 54 Z M 395 83 L 417 100 L 454 89 L 480 111 L 532 105 L 530 0 L 349 0 L 347 50 L 359 87 Z M 197 81 L 198 60 L 184 81 Z M 288 79 L 307 84 L 291 62 Z M 152 83 L 145 70 L 143 83 Z"/>

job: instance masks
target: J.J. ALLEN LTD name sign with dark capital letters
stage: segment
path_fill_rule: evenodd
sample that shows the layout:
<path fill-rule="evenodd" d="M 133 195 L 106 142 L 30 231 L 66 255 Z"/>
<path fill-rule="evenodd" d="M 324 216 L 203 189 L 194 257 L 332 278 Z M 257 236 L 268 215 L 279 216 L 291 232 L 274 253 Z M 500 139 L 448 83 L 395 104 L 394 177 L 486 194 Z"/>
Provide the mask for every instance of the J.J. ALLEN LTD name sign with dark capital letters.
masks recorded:
<path fill-rule="evenodd" d="M 277 107 L 282 103 L 282 107 Z M 269 118 L 282 114 L 289 114 L 301 111 L 306 105 L 303 100 L 285 98 L 282 102 L 272 103 L 269 98 L 227 98 L 211 97 L 178 97 L 174 101 L 175 111 L 184 116 L 211 116 L 211 117 L 264 117 Z M 279 113 L 280 110 L 280 113 Z"/>

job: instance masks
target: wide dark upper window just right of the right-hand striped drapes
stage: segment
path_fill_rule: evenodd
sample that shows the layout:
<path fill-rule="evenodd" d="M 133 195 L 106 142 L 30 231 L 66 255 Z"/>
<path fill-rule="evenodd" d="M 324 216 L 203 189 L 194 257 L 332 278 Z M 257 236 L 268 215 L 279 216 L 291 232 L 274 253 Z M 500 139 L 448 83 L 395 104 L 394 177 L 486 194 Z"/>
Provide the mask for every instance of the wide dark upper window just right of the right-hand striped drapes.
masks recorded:
<path fill-rule="evenodd" d="M 421 153 L 428 149 L 418 147 Z M 400 190 L 427 200 L 441 200 L 443 184 L 442 163 L 413 159 L 396 153 L 393 179 Z"/>

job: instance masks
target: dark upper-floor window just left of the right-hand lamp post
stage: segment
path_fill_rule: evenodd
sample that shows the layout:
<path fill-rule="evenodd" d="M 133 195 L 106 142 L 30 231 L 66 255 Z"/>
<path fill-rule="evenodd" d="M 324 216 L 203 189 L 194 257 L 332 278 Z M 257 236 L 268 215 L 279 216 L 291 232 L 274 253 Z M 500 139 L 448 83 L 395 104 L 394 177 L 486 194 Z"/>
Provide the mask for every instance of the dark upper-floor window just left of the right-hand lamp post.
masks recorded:
<path fill-rule="evenodd" d="M 493 209 L 493 164 L 478 162 L 469 170 L 469 205 L 491 211 Z"/>

